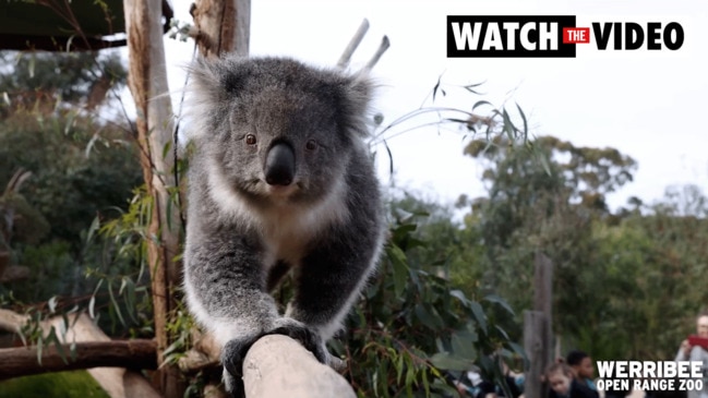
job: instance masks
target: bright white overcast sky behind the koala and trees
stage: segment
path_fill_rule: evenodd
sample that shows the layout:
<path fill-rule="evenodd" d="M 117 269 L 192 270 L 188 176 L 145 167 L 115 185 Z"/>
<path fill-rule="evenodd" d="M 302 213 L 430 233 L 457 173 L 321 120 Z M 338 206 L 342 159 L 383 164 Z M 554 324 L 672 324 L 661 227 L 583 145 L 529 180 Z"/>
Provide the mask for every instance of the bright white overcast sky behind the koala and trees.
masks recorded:
<path fill-rule="evenodd" d="M 189 0 L 172 0 L 190 21 Z M 376 108 L 391 122 L 423 104 L 437 77 L 443 83 L 481 83 L 480 97 L 447 105 L 469 108 L 478 99 L 514 109 L 519 104 L 535 135 L 555 135 L 579 146 L 615 147 L 638 161 L 635 181 L 610 196 L 613 208 L 635 195 L 645 202 L 673 184 L 708 190 L 708 3 L 704 1 L 267 1 L 253 0 L 251 55 L 291 56 L 334 65 L 365 17 L 371 24 L 355 53 L 365 63 L 383 35 L 391 48 L 374 69 L 381 84 Z M 591 22 L 679 22 L 685 33 L 677 51 L 597 51 L 579 45 L 575 59 L 448 59 L 446 16 L 577 15 Z M 183 84 L 180 65 L 191 44 L 167 40 L 170 88 Z M 176 107 L 177 108 L 177 107 Z M 385 123 L 385 122 L 384 122 Z M 398 185 L 444 202 L 484 194 L 481 168 L 461 155 L 463 135 L 421 129 L 388 142 Z M 391 178 L 380 157 L 383 182 Z"/>

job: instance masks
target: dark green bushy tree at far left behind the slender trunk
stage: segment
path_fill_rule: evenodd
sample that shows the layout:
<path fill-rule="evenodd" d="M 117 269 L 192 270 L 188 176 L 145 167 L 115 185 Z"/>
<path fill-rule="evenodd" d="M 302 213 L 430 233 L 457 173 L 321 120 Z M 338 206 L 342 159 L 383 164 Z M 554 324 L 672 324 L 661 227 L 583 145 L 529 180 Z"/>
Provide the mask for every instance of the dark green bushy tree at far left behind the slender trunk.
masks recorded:
<path fill-rule="evenodd" d="M 31 273 L 8 288 L 24 302 L 91 293 L 95 281 L 85 274 L 99 262 L 100 249 L 86 246 L 86 232 L 96 217 L 128 208 L 140 168 L 132 137 L 87 111 L 86 98 L 98 106 L 107 89 L 99 95 L 96 87 L 106 81 L 120 87 L 125 70 L 115 53 L 3 51 L 0 58 L 12 60 L 0 73 L 7 98 L 0 112 L 0 181 L 19 169 L 29 171 L 22 197 L 38 213 L 15 217 L 15 262 Z"/>

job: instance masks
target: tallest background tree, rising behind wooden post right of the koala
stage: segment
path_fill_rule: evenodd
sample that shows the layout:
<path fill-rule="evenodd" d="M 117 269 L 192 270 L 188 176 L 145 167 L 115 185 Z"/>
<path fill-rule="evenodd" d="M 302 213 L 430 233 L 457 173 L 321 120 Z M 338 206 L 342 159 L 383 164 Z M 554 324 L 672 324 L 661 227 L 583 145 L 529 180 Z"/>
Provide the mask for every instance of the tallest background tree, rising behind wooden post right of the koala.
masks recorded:
<path fill-rule="evenodd" d="M 577 331 L 583 323 L 573 314 L 596 310 L 584 282 L 584 274 L 593 272 L 592 221 L 609 215 L 604 197 L 632 180 L 635 162 L 616 149 L 576 147 L 551 136 L 535 140 L 535 152 L 509 152 L 503 141 L 473 141 L 465 149 L 487 165 L 489 197 L 472 210 L 489 265 L 485 287 L 514 307 L 530 307 L 531 296 L 514 292 L 530 290 L 532 256 L 545 253 L 555 266 L 555 326 Z"/>

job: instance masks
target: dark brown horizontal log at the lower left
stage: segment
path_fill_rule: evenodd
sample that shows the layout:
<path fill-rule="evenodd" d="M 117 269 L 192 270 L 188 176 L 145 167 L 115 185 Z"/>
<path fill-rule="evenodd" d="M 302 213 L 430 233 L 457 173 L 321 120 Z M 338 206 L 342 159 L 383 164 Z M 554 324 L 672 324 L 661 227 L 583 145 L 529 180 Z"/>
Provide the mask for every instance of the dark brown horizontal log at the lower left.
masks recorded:
<path fill-rule="evenodd" d="M 70 346 L 62 347 L 69 363 L 64 363 L 57 347 L 51 346 L 43 349 L 41 365 L 37 363 L 36 347 L 0 349 L 0 379 L 99 366 L 157 369 L 157 343 L 153 340 L 79 342 L 74 361 L 70 358 Z"/>

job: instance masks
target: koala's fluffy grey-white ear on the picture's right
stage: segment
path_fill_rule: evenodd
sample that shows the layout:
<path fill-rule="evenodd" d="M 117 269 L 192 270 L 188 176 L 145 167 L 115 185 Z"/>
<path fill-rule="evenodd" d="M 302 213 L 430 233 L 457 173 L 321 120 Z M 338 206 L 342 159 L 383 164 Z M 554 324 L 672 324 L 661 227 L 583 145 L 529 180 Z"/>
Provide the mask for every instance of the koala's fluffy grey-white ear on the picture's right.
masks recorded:
<path fill-rule="evenodd" d="M 353 75 L 340 83 L 339 117 L 344 126 L 360 137 L 369 135 L 367 117 L 373 94 L 373 84 L 365 75 Z"/>

